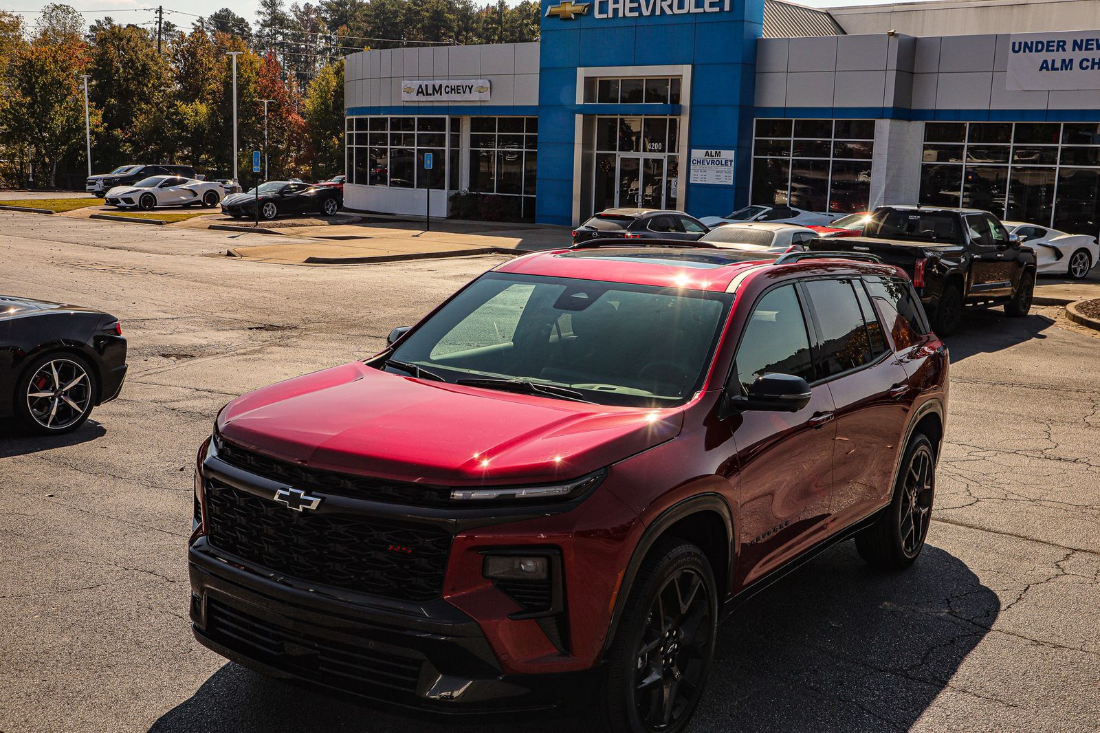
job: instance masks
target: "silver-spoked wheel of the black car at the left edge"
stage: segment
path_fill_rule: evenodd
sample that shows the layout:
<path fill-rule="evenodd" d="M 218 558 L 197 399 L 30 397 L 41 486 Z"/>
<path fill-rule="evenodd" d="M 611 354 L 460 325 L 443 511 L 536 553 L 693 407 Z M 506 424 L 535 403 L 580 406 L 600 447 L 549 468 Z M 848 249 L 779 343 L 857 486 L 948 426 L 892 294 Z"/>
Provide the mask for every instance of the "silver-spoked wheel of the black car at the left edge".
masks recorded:
<path fill-rule="evenodd" d="M 28 364 L 15 381 L 15 416 L 33 433 L 70 433 L 88 419 L 97 394 L 99 383 L 87 360 L 55 351 Z"/>

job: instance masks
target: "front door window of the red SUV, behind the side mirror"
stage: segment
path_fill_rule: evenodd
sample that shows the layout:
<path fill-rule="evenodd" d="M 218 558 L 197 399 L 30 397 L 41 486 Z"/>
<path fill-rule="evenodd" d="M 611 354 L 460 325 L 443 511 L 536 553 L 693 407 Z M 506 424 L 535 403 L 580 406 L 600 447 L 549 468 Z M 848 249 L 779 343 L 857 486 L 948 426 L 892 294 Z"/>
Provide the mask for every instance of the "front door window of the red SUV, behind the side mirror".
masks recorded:
<path fill-rule="evenodd" d="M 737 349 L 737 381 L 741 391 L 761 374 L 794 374 L 814 379 L 810 338 L 793 285 L 783 285 L 765 295 L 748 324 Z"/>

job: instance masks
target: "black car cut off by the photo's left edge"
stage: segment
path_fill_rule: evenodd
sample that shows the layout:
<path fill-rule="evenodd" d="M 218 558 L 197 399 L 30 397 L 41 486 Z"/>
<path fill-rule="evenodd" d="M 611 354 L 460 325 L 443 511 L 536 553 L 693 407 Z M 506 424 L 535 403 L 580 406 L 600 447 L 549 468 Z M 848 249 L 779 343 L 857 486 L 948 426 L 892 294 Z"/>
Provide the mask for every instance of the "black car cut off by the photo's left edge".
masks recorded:
<path fill-rule="evenodd" d="M 125 375 L 127 340 L 114 316 L 0 295 L 0 418 L 37 433 L 75 430 L 92 407 L 119 396 Z"/>

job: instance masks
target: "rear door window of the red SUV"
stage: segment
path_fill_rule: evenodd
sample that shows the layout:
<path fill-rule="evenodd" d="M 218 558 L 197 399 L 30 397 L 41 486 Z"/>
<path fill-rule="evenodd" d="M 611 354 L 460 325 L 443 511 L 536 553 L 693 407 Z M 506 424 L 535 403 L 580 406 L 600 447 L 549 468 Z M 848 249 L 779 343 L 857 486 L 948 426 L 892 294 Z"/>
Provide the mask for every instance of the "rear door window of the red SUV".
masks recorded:
<path fill-rule="evenodd" d="M 869 362 L 870 339 L 851 283 L 812 280 L 805 283 L 805 288 L 821 328 L 821 375 L 832 376 Z"/>

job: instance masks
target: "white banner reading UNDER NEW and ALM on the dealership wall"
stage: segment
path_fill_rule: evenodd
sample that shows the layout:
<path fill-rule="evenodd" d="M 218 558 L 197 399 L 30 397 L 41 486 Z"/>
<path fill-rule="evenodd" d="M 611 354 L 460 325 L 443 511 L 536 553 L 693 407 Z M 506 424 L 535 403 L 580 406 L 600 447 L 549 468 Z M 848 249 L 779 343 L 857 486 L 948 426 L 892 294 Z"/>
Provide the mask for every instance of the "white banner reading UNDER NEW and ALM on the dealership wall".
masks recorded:
<path fill-rule="evenodd" d="M 1009 91 L 1100 89 L 1100 31 L 1013 33 Z"/>

